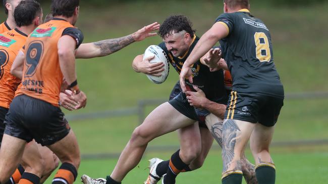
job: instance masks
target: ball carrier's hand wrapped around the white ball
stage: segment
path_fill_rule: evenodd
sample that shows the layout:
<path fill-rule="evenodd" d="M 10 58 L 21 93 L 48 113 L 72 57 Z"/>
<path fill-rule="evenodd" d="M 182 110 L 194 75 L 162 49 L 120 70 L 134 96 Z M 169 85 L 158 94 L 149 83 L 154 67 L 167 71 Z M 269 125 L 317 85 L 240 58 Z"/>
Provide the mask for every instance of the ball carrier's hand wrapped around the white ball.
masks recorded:
<path fill-rule="evenodd" d="M 138 72 L 142 72 L 149 75 L 161 76 L 161 73 L 164 70 L 164 63 L 150 63 L 149 61 L 155 56 L 149 56 L 142 61 L 135 62 L 135 66 L 138 69 Z"/>

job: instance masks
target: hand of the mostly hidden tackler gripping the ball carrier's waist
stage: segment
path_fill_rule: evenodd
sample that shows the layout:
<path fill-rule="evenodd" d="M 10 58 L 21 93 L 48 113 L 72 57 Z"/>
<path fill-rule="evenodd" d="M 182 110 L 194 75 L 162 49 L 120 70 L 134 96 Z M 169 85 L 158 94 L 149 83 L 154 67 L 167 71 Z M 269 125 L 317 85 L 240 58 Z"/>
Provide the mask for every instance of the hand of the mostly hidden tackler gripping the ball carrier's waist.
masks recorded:
<path fill-rule="evenodd" d="M 204 109 L 203 105 L 206 101 L 208 101 L 208 99 L 206 99 L 204 92 L 200 88 L 195 85 L 193 87 L 196 92 L 186 91 L 188 103 L 190 106 L 194 106 L 195 108 Z"/>

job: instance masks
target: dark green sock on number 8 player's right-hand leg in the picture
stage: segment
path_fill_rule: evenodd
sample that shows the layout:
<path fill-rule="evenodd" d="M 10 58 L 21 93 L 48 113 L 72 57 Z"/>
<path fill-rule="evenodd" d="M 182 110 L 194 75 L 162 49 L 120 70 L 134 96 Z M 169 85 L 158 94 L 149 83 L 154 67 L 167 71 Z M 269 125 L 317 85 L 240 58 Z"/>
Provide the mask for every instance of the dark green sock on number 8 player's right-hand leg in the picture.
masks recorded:
<path fill-rule="evenodd" d="M 262 165 L 255 169 L 255 175 L 258 184 L 275 184 L 276 182 L 276 169 L 268 165 Z"/>

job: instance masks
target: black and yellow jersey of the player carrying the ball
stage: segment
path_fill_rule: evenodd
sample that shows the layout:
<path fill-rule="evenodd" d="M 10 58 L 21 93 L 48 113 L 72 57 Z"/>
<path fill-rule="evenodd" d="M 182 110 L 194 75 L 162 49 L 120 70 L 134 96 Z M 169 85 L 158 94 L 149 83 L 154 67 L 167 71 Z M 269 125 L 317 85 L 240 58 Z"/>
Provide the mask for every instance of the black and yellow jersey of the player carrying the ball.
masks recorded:
<path fill-rule="evenodd" d="M 183 63 L 186 61 L 192 49 L 194 49 L 198 40 L 199 38 L 194 36 L 189 49 L 181 57 L 174 57 L 173 54 L 168 51 L 165 42 L 160 43 L 158 46 L 166 52 L 169 56 L 170 63 L 177 72 L 180 73 Z M 227 104 L 228 96 L 225 90 L 223 70 L 210 72 L 209 68 L 203 65 L 200 60 L 190 68 L 193 73 L 193 83 L 191 84 L 189 80 L 186 79 L 187 87 L 189 86 L 191 90 L 194 90 L 192 85 L 196 85 L 204 91 L 207 99 L 220 104 Z"/>

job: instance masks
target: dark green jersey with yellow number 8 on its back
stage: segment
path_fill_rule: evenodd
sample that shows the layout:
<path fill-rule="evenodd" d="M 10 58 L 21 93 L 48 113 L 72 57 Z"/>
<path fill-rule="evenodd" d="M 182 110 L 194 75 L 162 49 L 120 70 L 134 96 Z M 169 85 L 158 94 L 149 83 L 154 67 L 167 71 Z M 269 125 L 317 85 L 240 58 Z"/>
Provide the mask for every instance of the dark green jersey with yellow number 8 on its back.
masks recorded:
<path fill-rule="evenodd" d="M 229 34 L 220 40 L 233 78 L 234 91 L 284 98 L 284 89 L 272 52 L 270 32 L 247 9 L 220 15 L 215 24 Z"/>

